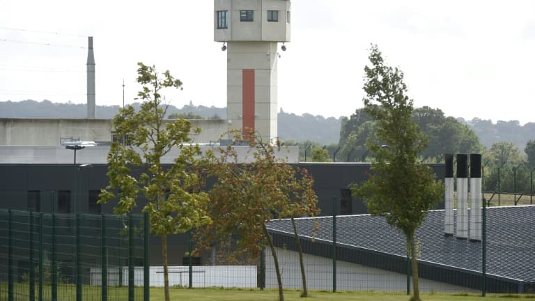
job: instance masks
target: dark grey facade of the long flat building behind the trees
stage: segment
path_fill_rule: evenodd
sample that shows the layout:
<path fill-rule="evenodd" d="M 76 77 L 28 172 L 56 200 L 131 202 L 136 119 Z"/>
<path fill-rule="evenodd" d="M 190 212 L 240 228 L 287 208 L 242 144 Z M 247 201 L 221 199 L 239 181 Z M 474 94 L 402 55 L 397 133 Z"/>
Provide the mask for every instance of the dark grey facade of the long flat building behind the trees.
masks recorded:
<path fill-rule="evenodd" d="M 297 166 L 308 169 L 314 179 L 314 190 L 318 195 L 320 215 L 332 215 L 333 198 L 341 199 L 341 190 L 347 189 L 351 183 L 362 183 L 366 180 L 366 171 L 370 164 L 366 163 L 300 163 Z M 444 178 L 444 164 L 431 165 L 437 178 Z M 73 169 L 72 164 L 0 164 L 0 208 L 28 210 L 28 191 L 40 191 L 40 209 L 51 211 L 51 199 L 54 192 L 54 206 L 58 208 L 57 192 L 72 191 L 77 181 L 77 211 L 88 212 L 88 191 L 101 190 L 106 187 L 107 165 L 93 164 L 90 169 Z M 352 214 L 367 213 L 362 200 L 353 198 Z M 144 205 L 142 199 L 135 213 L 139 213 Z M 74 205 L 71 206 L 74 209 Z M 102 213 L 113 213 L 114 203 L 102 205 Z M 340 208 L 340 207 L 339 207 Z M 440 205 L 444 208 L 444 203 Z M 182 234 L 169 238 L 169 264 L 180 265 L 188 250 L 188 236 Z M 150 241 L 150 263 L 161 265 L 161 240 L 153 237 Z M 203 254 L 203 258 L 206 258 Z"/>

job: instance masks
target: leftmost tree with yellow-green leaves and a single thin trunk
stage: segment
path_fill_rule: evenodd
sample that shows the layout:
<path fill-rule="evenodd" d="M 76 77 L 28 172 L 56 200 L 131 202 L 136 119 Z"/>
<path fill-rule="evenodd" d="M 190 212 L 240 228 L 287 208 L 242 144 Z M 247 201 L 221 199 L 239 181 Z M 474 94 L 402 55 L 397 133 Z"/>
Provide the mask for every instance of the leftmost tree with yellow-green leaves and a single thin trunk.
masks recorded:
<path fill-rule="evenodd" d="M 165 300 L 170 301 L 167 236 L 208 224 L 210 218 L 203 208 L 209 197 L 200 190 L 203 177 L 198 173 L 201 162 L 196 157 L 201 150 L 198 145 L 186 145 L 191 141 L 191 124 L 183 118 L 164 122 L 167 107 L 160 93 L 163 88 L 181 88 L 182 82 L 169 70 L 159 74 L 154 66 L 138 65 L 137 82 L 143 85 L 138 96 L 143 103 L 139 111 L 129 105 L 114 118 L 117 134 L 127 135 L 130 145 L 111 144 L 109 185 L 102 190 L 99 203 L 117 199 L 115 213 L 129 213 L 143 194 L 146 203 L 142 211 L 150 213 L 150 231 L 162 237 L 164 293 Z M 179 148 L 180 154 L 164 168 L 162 157 L 173 148 Z"/>

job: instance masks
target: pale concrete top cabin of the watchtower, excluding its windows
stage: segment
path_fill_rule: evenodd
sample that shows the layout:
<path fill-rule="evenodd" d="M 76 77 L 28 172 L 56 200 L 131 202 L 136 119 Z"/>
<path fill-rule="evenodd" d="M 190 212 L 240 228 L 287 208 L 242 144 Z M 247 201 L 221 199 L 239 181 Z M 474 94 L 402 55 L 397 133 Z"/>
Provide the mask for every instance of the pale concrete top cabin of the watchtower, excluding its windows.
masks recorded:
<path fill-rule="evenodd" d="M 226 10 L 227 29 L 217 29 L 217 11 Z M 240 10 L 253 10 L 253 22 L 240 22 Z M 267 22 L 267 10 L 279 12 L 279 22 Z M 215 0 L 214 40 L 233 41 L 290 41 L 290 1 L 288 0 Z"/>

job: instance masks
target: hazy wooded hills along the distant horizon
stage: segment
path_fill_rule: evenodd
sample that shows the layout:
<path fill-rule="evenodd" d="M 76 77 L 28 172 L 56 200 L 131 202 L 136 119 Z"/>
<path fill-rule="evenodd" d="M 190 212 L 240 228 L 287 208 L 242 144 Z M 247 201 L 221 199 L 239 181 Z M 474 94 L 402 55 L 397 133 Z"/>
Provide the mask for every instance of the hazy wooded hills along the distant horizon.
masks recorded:
<path fill-rule="evenodd" d="M 134 107 L 139 107 L 139 103 L 134 103 Z M 119 110 L 119 106 L 97 106 L 97 118 L 111 119 Z M 203 118 L 226 119 L 226 108 L 196 106 L 190 103 L 182 108 L 170 106 L 168 114 L 192 113 Z M 348 112 L 350 115 L 352 112 Z M 0 118 L 86 118 L 87 109 L 84 104 L 54 103 L 49 100 L 36 102 L 34 100 L 24 100 L 22 102 L 0 102 Z M 339 141 L 341 118 L 323 116 L 313 116 L 311 114 L 296 115 L 286 113 L 282 109 L 279 112 L 279 137 L 282 140 L 296 141 L 316 141 L 319 144 L 336 144 Z M 486 148 L 498 141 L 509 141 L 524 151 L 524 147 L 529 140 L 535 140 L 535 123 L 520 125 L 518 121 L 497 121 L 473 118 L 465 121 L 457 118 L 458 121 L 466 123 L 478 135 L 479 141 Z"/>

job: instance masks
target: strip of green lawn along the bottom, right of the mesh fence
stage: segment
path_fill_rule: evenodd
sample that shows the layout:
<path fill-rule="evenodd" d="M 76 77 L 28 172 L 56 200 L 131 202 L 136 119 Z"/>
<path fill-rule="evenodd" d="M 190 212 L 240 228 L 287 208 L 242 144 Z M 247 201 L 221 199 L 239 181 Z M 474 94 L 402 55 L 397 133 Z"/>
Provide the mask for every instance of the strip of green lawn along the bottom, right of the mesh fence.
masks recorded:
<path fill-rule="evenodd" d="M 277 290 L 240 290 L 240 289 L 219 289 L 219 288 L 171 288 L 171 300 L 196 300 L 196 301 L 275 301 L 278 298 Z M 305 300 L 384 300 L 397 301 L 409 300 L 409 297 L 404 293 L 383 293 L 375 291 L 366 292 L 341 292 L 330 293 L 326 291 L 311 291 L 309 298 L 300 298 L 300 291 L 284 291 L 284 300 L 288 301 L 305 301 Z M 479 300 L 479 301 L 497 301 L 497 300 L 535 300 L 535 295 L 504 295 L 504 294 L 488 294 L 486 298 L 481 298 L 481 295 L 467 295 L 467 294 L 423 294 L 422 300 L 432 301 L 449 301 L 449 300 Z M 164 300 L 163 288 L 151 288 L 150 300 L 160 301 Z"/>

